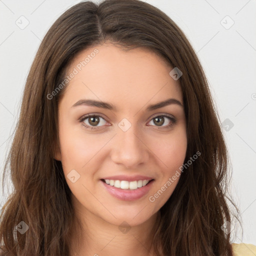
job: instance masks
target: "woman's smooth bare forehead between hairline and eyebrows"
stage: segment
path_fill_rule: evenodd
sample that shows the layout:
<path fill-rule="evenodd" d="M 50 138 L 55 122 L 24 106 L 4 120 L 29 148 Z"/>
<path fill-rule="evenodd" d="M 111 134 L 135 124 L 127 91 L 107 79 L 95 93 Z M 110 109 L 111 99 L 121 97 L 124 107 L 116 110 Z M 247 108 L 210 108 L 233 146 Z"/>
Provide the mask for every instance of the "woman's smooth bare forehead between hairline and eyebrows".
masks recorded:
<path fill-rule="evenodd" d="M 70 104 L 80 97 L 126 106 L 169 97 L 182 102 L 179 82 L 169 75 L 171 69 L 165 59 L 145 48 L 124 51 L 112 44 L 96 45 L 79 52 L 69 64 L 67 74 L 75 75 L 64 98 Z"/>

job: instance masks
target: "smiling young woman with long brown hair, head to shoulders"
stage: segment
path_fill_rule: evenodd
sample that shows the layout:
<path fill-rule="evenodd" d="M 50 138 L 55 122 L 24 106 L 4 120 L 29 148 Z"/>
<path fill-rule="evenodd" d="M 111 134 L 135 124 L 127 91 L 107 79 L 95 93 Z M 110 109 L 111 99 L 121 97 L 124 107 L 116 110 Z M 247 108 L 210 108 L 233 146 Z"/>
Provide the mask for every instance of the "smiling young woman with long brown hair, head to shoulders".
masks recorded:
<path fill-rule="evenodd" d="M 231 244 L 228 154 L 198 58 L 166 14 L 139 0 L 80 2 L 54 22 L 7 167 L 1 255 L 255 249 Z"/>

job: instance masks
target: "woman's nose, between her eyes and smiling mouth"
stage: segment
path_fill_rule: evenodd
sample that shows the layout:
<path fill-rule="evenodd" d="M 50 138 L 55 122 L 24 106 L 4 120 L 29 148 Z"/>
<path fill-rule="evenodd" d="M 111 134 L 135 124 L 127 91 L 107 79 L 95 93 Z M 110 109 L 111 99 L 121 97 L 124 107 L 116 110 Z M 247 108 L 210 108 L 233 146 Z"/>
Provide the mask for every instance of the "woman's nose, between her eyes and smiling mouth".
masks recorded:
<path fill-rule="evenodd" d="M 113 145 L 112 161 L 122 164 L 125 168 L 135 169 L 137 165 L 146 163 L 149 159 L 150 149 L 146 146 L 146 141 L 143 141 L 142 135 L 135 129 L 135 125 L 131 125 L 126 131 L 119 129 Z"/>

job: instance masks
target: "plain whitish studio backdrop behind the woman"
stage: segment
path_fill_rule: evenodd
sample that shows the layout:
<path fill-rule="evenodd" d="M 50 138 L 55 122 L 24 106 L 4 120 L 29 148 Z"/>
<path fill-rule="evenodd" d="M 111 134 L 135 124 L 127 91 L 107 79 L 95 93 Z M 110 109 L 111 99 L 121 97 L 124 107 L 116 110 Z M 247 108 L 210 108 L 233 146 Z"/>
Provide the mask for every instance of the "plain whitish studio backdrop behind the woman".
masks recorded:
<path fill-rule="evenodd" d="M 30 65 L 46 31 L 79 0 L 0 0 L 0 175 Z M 146 0 L 164 11 L 196 51 L 217 105 L 232 163 L 231 191 L 243 237 L 256 245 L 255 0 Z M 2 194 L 0 207 L 12 184 Z M 231 223 L 232 226 L 235 223 Z"/>

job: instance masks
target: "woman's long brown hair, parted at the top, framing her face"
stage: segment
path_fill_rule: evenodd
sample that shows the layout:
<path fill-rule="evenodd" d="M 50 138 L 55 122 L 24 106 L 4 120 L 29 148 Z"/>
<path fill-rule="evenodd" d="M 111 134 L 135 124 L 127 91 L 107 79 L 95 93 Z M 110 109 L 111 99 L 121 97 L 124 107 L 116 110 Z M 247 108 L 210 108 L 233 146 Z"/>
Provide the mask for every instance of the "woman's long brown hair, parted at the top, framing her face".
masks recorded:
<path fill-rule="evenodd" d="M 180 28 L 161 10 L 139 0 L 80 2 L 67 9 L 44 36 L 26 80 L 4 165 L 4 173 L 10 170 L 14 190 L 1 213 L 3 255 L 70 253 L 71 191 L 61 162 L 53 158 L 59 148 L 58 100 L 66 86 L 56 95 L 52 91 L 64 80 L 78 52 L 106 41 L 126 50 L 148 48 L 182 71 L 185 162 L 196 151 L 201 156 L 182 172 L 159 210 L 153 237 L 156 255 L 161 255 L 162 248 L 164 255 L 231 256 L 230 233 L 222 225 L 231 222 L 228 202 L 237 208 L 226 196 L 228 153 L 206 77 Z M 15 229 L 20 221 L 29 226 L 24 234 Z"/>

